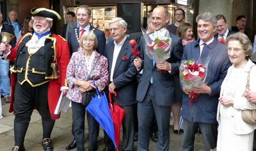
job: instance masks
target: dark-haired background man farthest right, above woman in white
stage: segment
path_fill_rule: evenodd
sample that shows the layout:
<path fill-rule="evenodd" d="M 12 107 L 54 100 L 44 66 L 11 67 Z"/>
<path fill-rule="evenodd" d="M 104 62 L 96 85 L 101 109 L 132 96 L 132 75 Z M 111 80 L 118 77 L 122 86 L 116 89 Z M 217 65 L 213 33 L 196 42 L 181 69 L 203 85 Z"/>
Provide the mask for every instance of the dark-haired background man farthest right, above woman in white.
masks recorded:
<path fill-rule="evenodd" d="M 231 30 L 235 32 L 242 32 L 248 36 L 248 32 L 245 31 L 246 17 L 244 15 L 238 16 L 236 18 L 236 26 L 232 26 Z"/>

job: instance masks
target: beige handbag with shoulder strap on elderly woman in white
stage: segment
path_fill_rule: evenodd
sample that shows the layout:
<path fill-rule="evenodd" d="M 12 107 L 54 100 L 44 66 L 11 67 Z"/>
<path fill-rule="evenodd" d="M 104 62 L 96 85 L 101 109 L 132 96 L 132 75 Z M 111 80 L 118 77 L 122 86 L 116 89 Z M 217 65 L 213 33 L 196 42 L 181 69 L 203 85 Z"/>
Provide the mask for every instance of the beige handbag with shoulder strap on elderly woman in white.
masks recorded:
<path fill-rule="evenodd" d="M 253 65 L 253 66 L 255 66 L 255 65 Z M 247 76 L 247 82 L 246 82 L 244 94 L 250 90 L 250 72 L 251 72 L 251 69 L 253 66 L 251 66 L 248 76 Z M 244 120 L 244 122 L 246 122 L 248 124 L 256 125 L 256 110 L 243 110 L 242 111 L 242 119 Z"/>

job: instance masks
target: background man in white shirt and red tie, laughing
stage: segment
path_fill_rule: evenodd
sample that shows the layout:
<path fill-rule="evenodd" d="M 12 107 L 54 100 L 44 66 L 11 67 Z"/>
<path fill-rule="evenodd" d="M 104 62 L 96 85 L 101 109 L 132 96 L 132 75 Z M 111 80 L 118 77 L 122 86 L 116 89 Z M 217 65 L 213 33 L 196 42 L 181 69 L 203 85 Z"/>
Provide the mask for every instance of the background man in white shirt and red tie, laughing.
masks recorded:
<path fill-rule="evenodd" d="M 225 45 L 225 41 L 223 40 L 226 40 L 227 37 L 230 36 L 230 34 L 234 34 L 236 32 L 230 31 L 230 29 L 228 29 L 227 20 L 223 15 L 216 15 L 216 19 L 217 19 L 216 31 L 218 33 L 214 34 L 214 38 L 216 38 L 217 40 L 219 40 Z"/>

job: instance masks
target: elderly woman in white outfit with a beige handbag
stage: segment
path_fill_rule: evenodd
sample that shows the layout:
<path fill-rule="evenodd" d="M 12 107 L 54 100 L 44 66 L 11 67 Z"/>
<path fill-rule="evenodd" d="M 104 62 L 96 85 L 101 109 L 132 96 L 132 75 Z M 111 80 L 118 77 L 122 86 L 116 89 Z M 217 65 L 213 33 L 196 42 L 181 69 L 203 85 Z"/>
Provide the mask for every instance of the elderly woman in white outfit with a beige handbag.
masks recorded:
<path fill-rule="evenodd" d="M 250 150 L 253 147 L 255 125 L 241 117 L 243 110 L 256 110 L 256 104 L 244 97 L 248 71 L 255 65 L 250 60 L 252 43 L 245 34 L 237 32 L 226 40 L 232 66 L 221 85 L 217 120 L 219 122 L 217 150 Z M 256 66 L 250 71 L 250 91 L 256 92 Z"/>

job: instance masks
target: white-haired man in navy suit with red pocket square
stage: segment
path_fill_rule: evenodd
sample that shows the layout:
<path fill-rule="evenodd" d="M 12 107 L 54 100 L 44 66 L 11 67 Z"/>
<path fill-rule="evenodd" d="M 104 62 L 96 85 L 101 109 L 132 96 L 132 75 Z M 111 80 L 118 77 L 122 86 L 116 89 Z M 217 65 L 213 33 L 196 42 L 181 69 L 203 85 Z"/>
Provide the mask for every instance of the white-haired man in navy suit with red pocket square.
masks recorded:
<path fill-rule="evenodd" d="M 136 75 L 137 70 L 133 64 L 129 38 L 125 35 L 127 23 L 122 18 L 113 18 L 109 22 L 109 29 L 113 41 L 106 45 L 105 56 L 109 61 L 109 92 L 116 91 L 118 105 L 124 109 L 123 144 L 122 150 L 133 150 L 134 136 L 134 104 L 136 103 Z M 105 134 L 104 150 L 113 150 L 112 141 Z"/>

